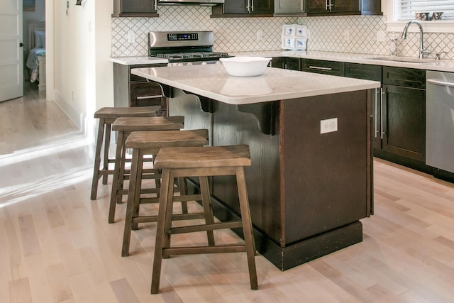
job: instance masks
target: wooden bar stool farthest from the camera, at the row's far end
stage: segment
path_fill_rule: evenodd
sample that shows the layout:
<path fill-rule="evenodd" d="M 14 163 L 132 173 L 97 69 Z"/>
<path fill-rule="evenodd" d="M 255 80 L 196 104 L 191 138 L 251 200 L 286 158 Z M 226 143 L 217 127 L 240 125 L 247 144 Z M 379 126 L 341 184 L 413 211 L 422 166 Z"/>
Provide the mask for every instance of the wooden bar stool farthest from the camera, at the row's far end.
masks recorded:
<path fill-rule="evenodd" d="M 139 106 L 139 107 L 103 107 L 94 113 L 94 118 L 99 119 L 98 135 L 96 138 L 96 149 L 94 154 L 94 169 L 92 180 L 92 194 L 90 199 L 96 199 L 98 181 L 102 176 L 102 183 L 107 184 L 107 176 L 113 175 L 114 170 L 109 170 L 109 145 L 111 143 L 111 124 L 119 117 L 153 117 L 157 116 L 160 106 Z M 104 141 L 104 156 L 101 165 L 101 149 Z"/>

